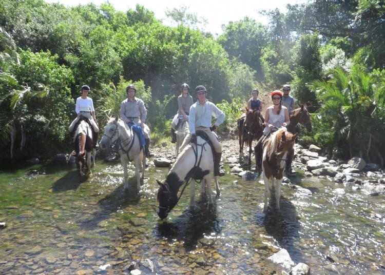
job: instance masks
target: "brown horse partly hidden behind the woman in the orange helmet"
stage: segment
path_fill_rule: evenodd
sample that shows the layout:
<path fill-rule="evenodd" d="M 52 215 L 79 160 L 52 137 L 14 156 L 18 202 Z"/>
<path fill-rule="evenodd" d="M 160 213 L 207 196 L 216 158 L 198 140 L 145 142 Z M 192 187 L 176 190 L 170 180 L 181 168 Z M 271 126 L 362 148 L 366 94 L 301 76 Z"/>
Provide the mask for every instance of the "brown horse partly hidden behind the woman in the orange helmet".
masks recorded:
<path fill-rule="evenodd" d="M 290 112 L 290 124 L 286 126 L 287 131 L 298 134 L 299 133 L 299 127 L 298 123 L 305 126 L 306 130 L 311 132 L 312 131 L 312 122 L 310 120 L 310 113 L 307 111 L 306 105 L 301 105 L 300 108 L 297 108 Z M 294 148 L 291 152 L 287 155 L 287 163 L 286 163 L 286 174 L 292 173 L 292 161 L 294 158 Z"/>

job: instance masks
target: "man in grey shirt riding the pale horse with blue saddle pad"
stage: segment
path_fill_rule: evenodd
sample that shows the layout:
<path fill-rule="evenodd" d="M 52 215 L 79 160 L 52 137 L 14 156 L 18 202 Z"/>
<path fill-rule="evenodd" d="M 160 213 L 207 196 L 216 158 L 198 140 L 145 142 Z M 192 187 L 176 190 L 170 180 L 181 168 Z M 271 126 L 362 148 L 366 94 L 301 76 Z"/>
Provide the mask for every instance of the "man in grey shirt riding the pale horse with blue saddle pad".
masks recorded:
<path fill-rule="evenodd" d="M 147 158 L 151 156 L 149 152 L 150 146 L 150 136 L 149 133 L 144 132 L 144 122 L 147 117 L 147 110 L 144 106 L 144 102 L 141 99 L 138 99 L 135 95 L 137 93 L 137 88 L 134 85 L 130 84 L 126 88 L 127 99 L 122 101 L 120 106 L 120 116 L 123 121 L 127 123 L 129 127 L 132 127 L 139 135 L 140 143 L 144 147 L 144 154 Z M 141 120 L 139 116 L 141 115 Z"/>

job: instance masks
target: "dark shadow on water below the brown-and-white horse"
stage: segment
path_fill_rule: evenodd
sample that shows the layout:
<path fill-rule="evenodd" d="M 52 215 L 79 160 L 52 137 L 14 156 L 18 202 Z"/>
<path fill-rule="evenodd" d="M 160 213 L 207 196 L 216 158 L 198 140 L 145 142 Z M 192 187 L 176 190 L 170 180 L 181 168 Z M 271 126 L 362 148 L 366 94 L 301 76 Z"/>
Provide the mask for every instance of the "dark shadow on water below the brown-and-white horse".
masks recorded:
<path fill-rule="evenodd" d="M 272 192 L 273 195 L 273 192 Z M 301 224 L 295 206 L 282 197 L 280 199 L 280 210 L 275 209 L 276 200 L 272 198 L 265 214 L 257 214 L 257 223 L 263 226 L 266 233 L 271 235 L 281 248 L 287 250 L 295 262 L 302 260 L 302 253 L 295 245 L 298 239 Z"/>

